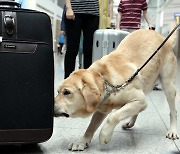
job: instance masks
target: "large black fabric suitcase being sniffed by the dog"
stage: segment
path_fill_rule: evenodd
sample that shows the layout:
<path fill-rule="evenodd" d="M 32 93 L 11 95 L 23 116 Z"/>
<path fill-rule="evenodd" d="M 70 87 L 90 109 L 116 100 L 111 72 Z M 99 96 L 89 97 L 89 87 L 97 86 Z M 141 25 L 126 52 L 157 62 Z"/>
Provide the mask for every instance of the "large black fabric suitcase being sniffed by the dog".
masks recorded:
<path fill-rule="evenodd" d="M 44 142 L 53 132 L 51 20 L 13 1 L 0 6 L 0 144 Z"/>

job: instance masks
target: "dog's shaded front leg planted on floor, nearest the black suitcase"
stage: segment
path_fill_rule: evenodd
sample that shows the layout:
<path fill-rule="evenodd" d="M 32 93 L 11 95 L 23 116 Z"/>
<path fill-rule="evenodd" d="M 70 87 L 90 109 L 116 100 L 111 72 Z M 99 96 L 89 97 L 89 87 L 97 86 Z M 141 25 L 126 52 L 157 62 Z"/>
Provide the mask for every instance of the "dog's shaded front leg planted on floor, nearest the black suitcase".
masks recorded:
<path fill-rule="evenodd" d="M 84 136 L 81 137 L 76 142 L 69 144 L 68 146 L 69 150 L 83 151 L 84 149 L 86 149 L 89 146 L 95 131 L 100 126 L 100 124 L 102 123 L 105 117 L 106 117 L 106 114 L 95 112 L 94 115 L 92 116 L 91 122 Z"/>

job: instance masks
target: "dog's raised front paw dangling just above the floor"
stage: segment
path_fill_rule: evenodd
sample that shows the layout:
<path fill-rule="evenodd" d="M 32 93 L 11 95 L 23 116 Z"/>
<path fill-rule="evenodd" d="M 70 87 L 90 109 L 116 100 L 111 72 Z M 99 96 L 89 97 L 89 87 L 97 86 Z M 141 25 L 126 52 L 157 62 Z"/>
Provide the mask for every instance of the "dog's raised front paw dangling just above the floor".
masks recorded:
<path fill-rule="evenodd" d="M 106 125 L 101 129 L 99 134 L 99 142 L 101 145 L 107 144 L 111 141 L 113 134 L 113 129 L 111 127 L 107 127 Z"/>

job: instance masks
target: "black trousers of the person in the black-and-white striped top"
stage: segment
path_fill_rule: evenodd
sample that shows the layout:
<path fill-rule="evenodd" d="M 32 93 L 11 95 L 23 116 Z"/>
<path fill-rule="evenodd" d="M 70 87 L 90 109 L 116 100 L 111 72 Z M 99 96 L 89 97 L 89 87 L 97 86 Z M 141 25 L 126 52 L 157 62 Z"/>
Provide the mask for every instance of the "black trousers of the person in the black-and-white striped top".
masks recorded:
<path fill-rule="evenodd" d="M 83 67 L 86 69 L 91 65 L 93 35 L 99 26 L 99 16 L 90 14 L 75 14 L 75 20 L 65 19 L 65 25 L 67 50 L 64 60 L 64 78 L 67 78 L 75 69 L 81 32 L 83 32 Z"/>

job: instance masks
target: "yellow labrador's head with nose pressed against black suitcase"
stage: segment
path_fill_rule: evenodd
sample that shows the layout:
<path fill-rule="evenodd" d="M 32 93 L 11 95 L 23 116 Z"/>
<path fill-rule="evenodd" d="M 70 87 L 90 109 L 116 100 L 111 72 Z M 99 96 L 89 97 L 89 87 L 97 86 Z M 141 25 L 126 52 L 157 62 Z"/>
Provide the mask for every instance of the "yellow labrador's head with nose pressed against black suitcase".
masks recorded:
<path fill-rule="evenodd" d="M 65 79 L 55 97 L 55 116 L 86 117 L 100 101 L 101 77 L 94 71 L 81 69 Z M 101 86 L 102 87 L 102 86 Z"/>

